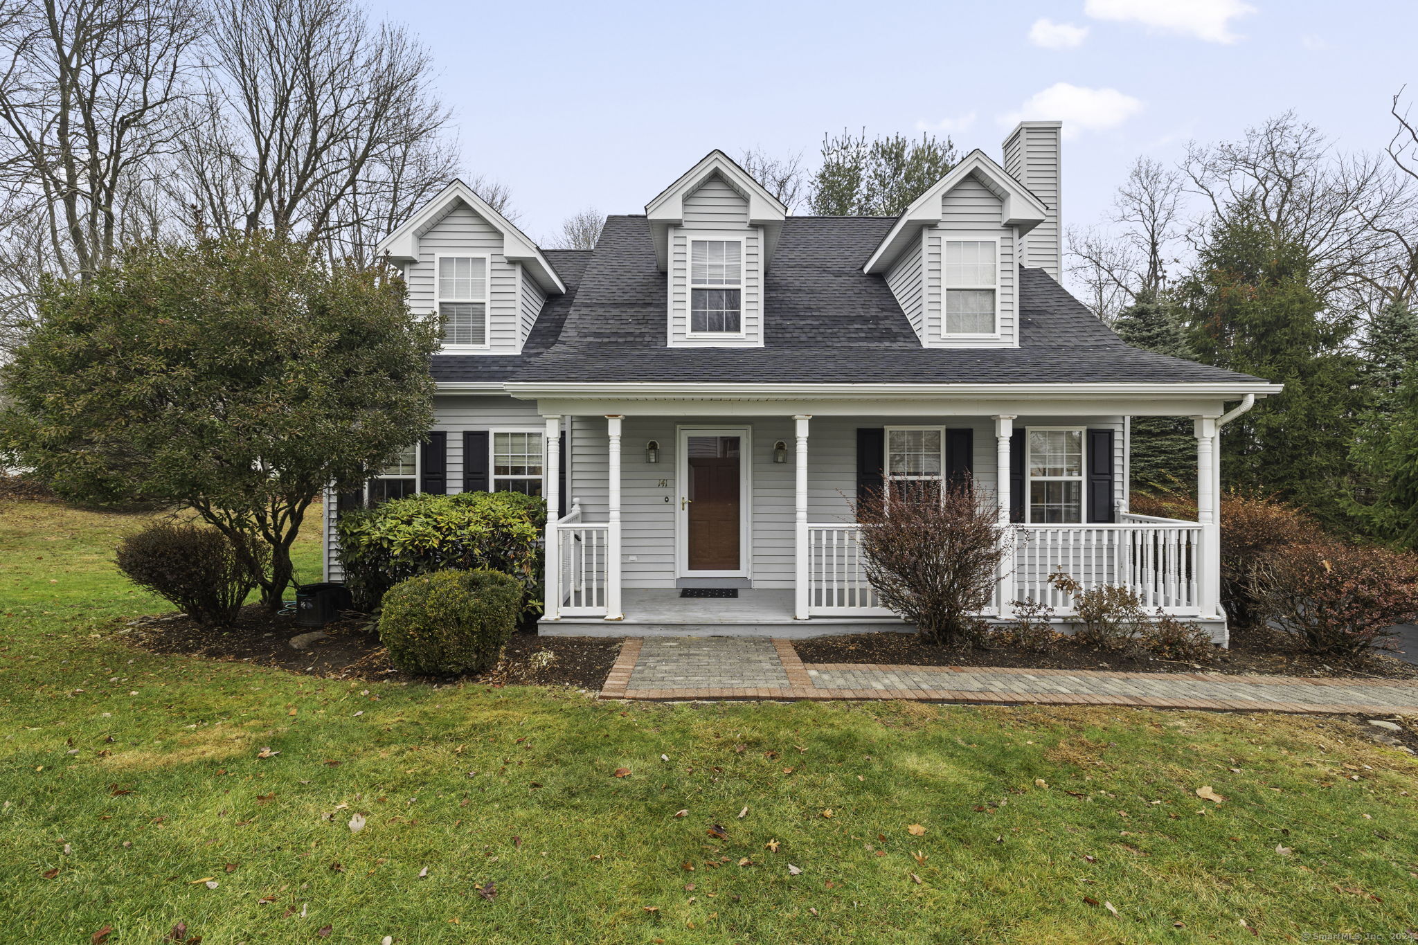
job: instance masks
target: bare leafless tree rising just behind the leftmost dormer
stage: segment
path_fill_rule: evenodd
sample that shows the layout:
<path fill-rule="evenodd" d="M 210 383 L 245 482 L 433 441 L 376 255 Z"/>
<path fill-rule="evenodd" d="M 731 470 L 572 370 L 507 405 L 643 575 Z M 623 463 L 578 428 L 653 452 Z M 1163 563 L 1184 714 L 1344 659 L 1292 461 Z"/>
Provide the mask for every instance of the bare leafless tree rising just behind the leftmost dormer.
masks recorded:
<path fill-rule="evenodd" d="M 360 255 L 452 176 L 441 139 L 450 115 L 431 94 L 427 51 L 406 30 L 372 26 L 350 0 L 213 7 L 217 133 L 191 142 L 207 153 L 186 156 L 204 171 L 191 203 L 235 191 L 242 230 Z"/>

